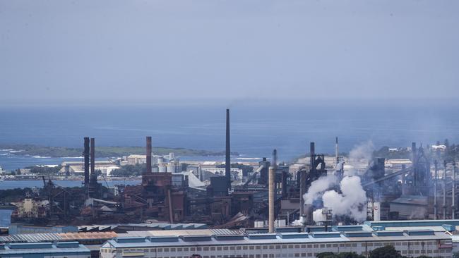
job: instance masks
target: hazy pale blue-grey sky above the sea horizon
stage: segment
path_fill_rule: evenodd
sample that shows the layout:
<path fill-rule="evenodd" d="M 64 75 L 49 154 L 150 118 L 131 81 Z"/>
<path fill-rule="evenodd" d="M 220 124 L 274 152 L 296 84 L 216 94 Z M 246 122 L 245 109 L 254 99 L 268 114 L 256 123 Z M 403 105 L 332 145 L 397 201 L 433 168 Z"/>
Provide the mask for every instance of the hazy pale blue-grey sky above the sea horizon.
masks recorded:
<path fill-rule="evenodd" d="M 0 89 L 0 102 L 456 97 L 459 1 L 0 0 Z"/>

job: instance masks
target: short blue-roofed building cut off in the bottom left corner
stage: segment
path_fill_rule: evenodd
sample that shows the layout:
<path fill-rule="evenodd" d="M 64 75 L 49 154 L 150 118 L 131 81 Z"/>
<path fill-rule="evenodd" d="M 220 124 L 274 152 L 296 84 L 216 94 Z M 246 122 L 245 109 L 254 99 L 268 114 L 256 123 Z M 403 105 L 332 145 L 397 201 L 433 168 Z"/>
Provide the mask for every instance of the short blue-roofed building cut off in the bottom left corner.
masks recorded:
<path fill-rule="evenodd" d="M 33 242 L 0 245 L 0 257 L 90 258 L 90 250 L 78 242 Z"/>

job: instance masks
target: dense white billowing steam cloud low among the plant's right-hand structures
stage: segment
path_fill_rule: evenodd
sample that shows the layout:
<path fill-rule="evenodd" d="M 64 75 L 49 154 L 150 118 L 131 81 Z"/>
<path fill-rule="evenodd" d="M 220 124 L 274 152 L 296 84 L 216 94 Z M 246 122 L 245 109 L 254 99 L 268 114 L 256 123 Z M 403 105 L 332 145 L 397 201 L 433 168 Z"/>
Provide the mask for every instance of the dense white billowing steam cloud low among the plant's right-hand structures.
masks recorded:
<path fill-rule="evenodd" d="M 346 176 L 340 183 L 341 194 L 330 190 L 323 194 L 323 206 L 332 209 L 333 215 L 347 215 L 356 221 L 366 219 L 366 193 L 358 176 Z M 315 212 L 314 212 L 315 213 Z"/>

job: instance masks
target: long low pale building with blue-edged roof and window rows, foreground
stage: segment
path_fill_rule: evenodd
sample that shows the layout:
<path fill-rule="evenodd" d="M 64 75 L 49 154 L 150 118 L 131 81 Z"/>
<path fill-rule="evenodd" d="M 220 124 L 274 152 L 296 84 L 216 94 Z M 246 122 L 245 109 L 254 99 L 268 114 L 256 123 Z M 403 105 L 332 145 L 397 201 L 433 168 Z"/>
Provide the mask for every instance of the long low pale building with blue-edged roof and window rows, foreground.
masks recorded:
<path fill-rule="evenodd" d="M 280 258 L 316 257 L 321 252 L 369 256 L 393 245 L 407 257 L 451 257 L 451 237 L 435 231 L 347 231 L 249 235 L 182 235 L 114 238 L 100 249 L 102 258 Z"/>

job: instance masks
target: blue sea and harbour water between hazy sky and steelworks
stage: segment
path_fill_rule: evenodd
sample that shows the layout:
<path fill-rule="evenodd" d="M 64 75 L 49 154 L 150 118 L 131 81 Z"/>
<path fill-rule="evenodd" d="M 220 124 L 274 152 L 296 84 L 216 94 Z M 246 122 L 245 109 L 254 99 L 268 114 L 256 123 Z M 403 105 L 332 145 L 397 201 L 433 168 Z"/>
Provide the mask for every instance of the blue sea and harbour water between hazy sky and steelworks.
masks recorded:
<path fill-rule="evenodd" d="M 459 142 L 459 104 L 439 101 L 309 101 L 222 104 L 119 104 L 83 106 L 1 106 L 0 143 L 82 147 L 83 137 L 99 146 L 144 146 L 145 136 L 159 147 L 225 149 L 225 109 L 231 109 L 232 152 L 239 158 L 270 156 L 290 161 L 309 152 L 347 152 L 371 140 L 376 148 L 424 145 L 448 138 Z M 223 160 L 215 157 L 186 159 Z M 62 159 L 0 156 L 14 169 L 59 164 Z"/>

